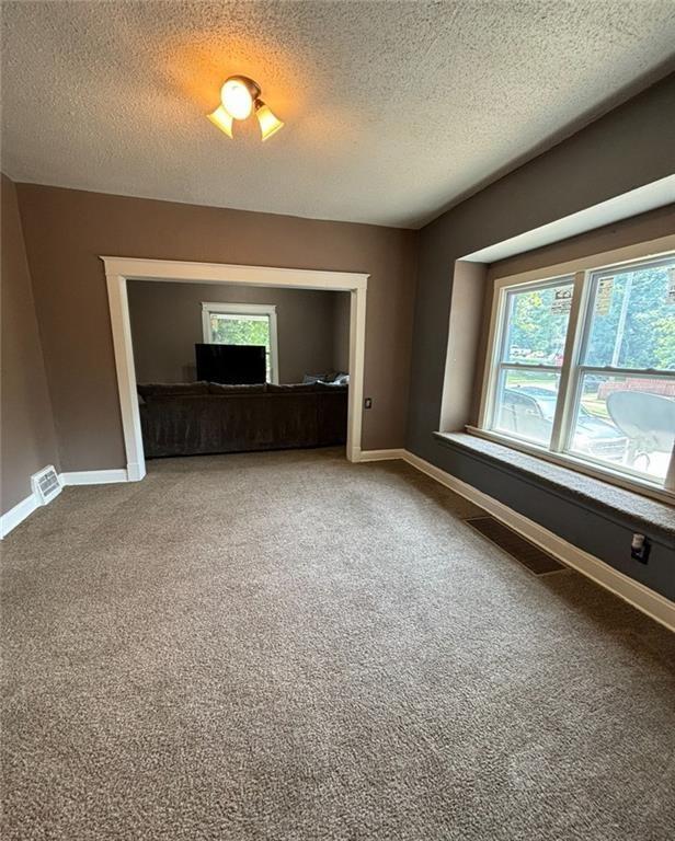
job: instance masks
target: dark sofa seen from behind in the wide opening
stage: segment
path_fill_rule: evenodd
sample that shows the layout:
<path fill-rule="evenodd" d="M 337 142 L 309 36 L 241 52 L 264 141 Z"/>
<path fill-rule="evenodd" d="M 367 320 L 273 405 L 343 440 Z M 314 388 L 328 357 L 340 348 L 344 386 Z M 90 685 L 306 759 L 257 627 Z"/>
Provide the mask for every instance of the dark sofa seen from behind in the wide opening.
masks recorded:
<path fill-rule="evenodd" d="M 346 441 L 346 385 L 141 384 L 138 395 L 148 459 Z"/>

